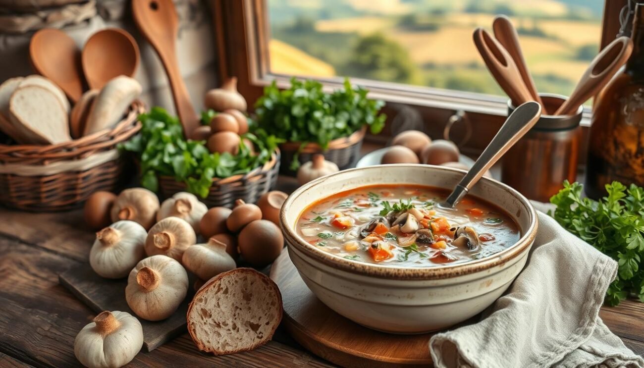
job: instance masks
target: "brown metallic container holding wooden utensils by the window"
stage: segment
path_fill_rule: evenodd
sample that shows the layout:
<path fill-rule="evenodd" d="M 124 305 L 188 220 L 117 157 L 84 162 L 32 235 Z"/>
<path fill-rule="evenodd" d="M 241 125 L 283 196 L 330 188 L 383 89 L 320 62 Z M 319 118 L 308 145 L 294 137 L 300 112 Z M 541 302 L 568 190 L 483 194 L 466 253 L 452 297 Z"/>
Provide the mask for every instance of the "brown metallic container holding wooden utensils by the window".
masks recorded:
<path fill-rule="evenodd" d="M 556 111 L 565 97 L 539 94 L 543 111 Z M 507 102 L 510 115 L 515 107 Z M 583 107 L 574 115 L 542 115 L 535 126 L 507 151 L 501 180 L 529 199 L 547 202 L 563 188 L 564 180 L 577 177 L 579 122 Z"/>

